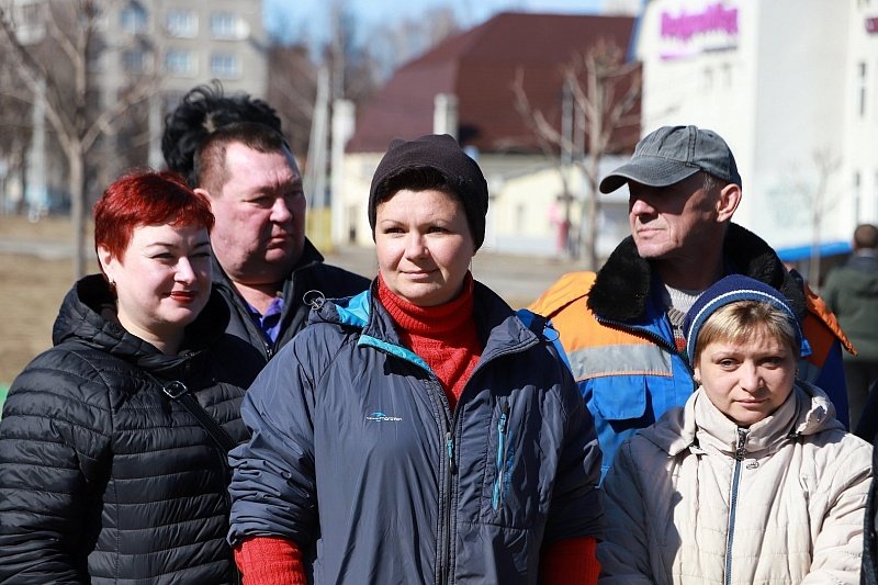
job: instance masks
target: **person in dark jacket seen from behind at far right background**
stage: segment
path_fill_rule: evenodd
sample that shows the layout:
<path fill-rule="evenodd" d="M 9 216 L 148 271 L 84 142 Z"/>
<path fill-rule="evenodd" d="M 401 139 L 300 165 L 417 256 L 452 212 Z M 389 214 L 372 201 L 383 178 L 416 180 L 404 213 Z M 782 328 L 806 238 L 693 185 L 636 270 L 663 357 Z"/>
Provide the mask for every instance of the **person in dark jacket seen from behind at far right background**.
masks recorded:
<path fill-rule="evenodd" d="M 844 356 L 851 427 L 856 428 L 869 386 L 878 379 L 878 227 L 857 226 L 854 255 L 829 273 L 821 296 L 857 350 Z"/>

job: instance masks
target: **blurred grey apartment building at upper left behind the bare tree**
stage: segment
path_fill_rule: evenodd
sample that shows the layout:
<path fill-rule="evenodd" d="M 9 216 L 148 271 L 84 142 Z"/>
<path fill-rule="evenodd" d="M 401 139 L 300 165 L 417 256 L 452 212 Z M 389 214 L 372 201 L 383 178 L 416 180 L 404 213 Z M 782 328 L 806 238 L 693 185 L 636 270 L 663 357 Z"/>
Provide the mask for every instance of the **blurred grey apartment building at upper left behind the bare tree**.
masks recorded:
<path fill-rule="evenodd" d="M 75 40 L 81 33 L 79 4 L 2 1 L 19 42 L 49 61 L 52 79 L 45 91 L 72 93 L 74 80 L 58 72 L 74 69 L 65 60 L 69 56 L 58 49 L 53 53 L 49 45 L 60 46 L 59 36 Z M 165 115 L 192 87 L 216 79 L 228 92 L 263 97 L 268 79 L 262 0 L 99 0 L 95 7 L 87 50 L 88 100 L 93 109 L 90 120 L 102 114 L 106 120 L 88 150 L 92 198 L 126 168 L 164 166 Z M 65 156 L 46 119 L 46 108 L 65 104 L 46 102 L 40 91 L 32 98 L 33 136 L 25 168 L 9 169 L 18 177 L 8 177 L 4 187 L 24 196 L 24 206 L 38 215 L 65 196 Z M 14 201 L 10 205 L 8 194 L 3 201 L 5 207 L 21 206 Z"/>

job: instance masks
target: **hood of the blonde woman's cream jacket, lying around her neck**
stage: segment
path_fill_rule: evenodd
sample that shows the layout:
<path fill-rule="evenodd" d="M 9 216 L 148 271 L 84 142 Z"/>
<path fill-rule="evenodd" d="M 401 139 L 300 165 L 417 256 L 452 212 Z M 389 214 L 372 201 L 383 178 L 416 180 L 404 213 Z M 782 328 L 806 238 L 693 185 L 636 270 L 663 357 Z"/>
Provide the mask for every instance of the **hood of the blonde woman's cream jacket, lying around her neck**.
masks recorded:
<path fill-rule="evenodd" d="M 671 457 L 689 448 L 712 449 L 731 457 L 736 448 L 738 429 L 734 421 L 713 406 L 703 387 L 699 387 L 685 406 L 668 410 L 640 434 Z M 787 439 L 833 429 L 844 430 L 844 426 L 835 418 L 829 396 L 813 384 L 797 381 L 774 414 L 750 427 L 746 451 L 751 455 L 768 454 Z"/>

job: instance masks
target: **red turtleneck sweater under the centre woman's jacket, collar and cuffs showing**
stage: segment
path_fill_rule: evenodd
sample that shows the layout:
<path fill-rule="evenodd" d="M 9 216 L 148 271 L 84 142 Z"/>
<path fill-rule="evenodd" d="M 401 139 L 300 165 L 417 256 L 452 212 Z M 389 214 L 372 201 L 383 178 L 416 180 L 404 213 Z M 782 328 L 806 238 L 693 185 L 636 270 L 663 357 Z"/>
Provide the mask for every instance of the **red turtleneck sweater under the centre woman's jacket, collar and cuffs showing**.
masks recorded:
<path fill-rule="evenodd" d="M 451 410 L 479 363 L 482 344 L 473 319 L 473 279 L 466 274 L 461 294 L 442 305 L 417 306 L 387 289 L 379 275 L 378 297 L 398 325 L 399 338 L 420 356 L 442 384 Z M 553 542 L 543 550 L 540 583 L 597 583 L 600 565 L 593 538 Z M 295 542 L 254 537 L 235 548 L 235 562 L 245 585 L 305 585 L 302 552 Z"/>

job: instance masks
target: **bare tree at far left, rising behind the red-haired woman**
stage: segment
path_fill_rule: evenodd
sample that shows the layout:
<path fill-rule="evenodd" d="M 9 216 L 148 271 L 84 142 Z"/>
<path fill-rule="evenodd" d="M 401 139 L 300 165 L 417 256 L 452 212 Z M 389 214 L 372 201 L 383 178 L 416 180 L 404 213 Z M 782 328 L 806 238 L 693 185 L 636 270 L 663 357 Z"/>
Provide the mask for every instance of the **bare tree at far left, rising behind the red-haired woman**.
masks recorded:
<path fill-rule="evenodd" d="M 43 95 L 46 121 L 68 166 L 75 278 L 85 273 L 87 157 L 101 136 L 114 132 L 132 104 L 154 91 L 154 80 L 144 78 L 108 106 L 94 108 L 92 64 L 104 49 L 99 23 L 109 1 L 45 0 L 38 5 L 45 10 L 46 38 L 37 45 L 25 45 L 10 11 L 0 8 L 0 43 L 32 95 Z"/>

